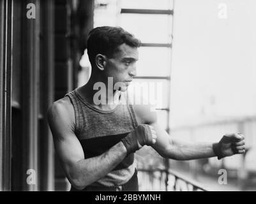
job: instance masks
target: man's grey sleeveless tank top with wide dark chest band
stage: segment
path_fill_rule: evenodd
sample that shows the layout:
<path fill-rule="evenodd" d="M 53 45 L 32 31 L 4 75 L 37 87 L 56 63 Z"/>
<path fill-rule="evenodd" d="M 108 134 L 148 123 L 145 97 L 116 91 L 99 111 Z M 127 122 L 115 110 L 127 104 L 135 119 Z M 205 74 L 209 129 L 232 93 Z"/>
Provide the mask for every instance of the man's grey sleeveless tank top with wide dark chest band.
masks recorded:
<path fill-rule="evenodd" d="M 94 108 L 76 89 L 65 96 L 72 102 L 75 111 L 75 135 L 82 145 L 86 159 L 100 156 L 138 126 L 126 92 L 121 92 L 121 98 L 126 103 L 119 104 L 110 111 Z M 90 186 L 121 186 L 134 173 L 134 154 L 130 154 L 114 170 Z"/>

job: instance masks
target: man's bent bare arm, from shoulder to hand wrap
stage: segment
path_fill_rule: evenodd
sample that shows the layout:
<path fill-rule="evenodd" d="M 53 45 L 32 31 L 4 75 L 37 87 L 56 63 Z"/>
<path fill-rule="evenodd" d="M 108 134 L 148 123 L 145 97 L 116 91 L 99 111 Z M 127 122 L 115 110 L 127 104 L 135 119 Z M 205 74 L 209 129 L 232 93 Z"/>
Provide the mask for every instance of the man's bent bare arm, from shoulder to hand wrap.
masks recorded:
<path fill-rule="evenodd" d="M 100 156 L 84 158 L 75 129 L 75 113 L 68 108 L 70 101 L 56 101 L 48 110 L 49 126 L 54 138 L 57 156 L 66 173 L 66 177 L 76 189 L 101 179 L 112 171 L 126 157 L 126 148 L 119 142 Z"/>

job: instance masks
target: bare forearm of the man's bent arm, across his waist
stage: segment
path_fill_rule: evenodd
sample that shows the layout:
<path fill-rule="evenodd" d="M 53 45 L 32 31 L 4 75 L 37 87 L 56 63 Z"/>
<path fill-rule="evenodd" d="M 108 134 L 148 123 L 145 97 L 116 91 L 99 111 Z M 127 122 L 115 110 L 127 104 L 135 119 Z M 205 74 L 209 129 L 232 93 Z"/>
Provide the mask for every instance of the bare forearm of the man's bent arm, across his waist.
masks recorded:
<path fill-rule="evenodd" d="M 77 188 L 83 189 L 107 175 L 125 157 L 126 149 L 123 143 L 119 142 L 100 156 L 78 161 L 73 167 L 71 177 L 75 180 Z"/>

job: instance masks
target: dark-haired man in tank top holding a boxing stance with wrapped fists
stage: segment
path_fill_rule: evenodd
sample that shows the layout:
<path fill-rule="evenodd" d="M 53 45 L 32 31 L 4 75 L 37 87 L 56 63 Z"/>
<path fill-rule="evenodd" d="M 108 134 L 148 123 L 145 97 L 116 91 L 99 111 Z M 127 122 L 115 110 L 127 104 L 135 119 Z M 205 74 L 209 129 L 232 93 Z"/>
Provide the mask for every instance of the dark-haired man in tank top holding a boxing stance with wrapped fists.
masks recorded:
<path fill-rule="evenodd" d="M 218 143 L 185 142 L 160 128 L 149 105 L 121 104 L 129 101 L 124 93 L 136 75 L 139 46 L 140 41 L 120 27 L 93 29 L 87 41 L 89 82 L 49 108 L 54 145 L 72 191 L 137 191 L 133 154 L 144 145 L 178 160 L 245 152 L 241 133 L 226 134 Z M 97 94 L 99 87 L 105 94 Z"/>

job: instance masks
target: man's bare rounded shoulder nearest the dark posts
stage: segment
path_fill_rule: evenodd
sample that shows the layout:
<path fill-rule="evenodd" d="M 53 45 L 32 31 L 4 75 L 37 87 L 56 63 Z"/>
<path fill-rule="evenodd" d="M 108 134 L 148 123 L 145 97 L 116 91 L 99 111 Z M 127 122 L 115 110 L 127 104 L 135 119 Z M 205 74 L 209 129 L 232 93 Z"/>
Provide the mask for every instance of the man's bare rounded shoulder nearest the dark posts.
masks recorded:
<path fill-rule="evenodd" d="M 66 96 L 55 101 L 47 111 L 47 119 L 49 125 L 55 128 L 63 126 L 62 128 L 73 129 L 75 127 L 75 112 L 70 99 Z"/>

